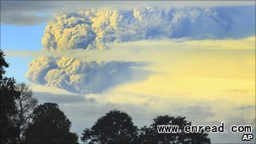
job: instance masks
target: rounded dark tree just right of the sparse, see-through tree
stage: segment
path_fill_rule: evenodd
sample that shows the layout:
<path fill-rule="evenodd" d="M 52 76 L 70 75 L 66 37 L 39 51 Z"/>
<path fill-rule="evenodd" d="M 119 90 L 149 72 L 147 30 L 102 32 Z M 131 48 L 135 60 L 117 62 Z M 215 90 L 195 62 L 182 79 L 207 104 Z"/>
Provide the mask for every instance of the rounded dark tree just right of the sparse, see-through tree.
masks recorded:
<path fill-rule="evenodd" d="M 40 104 L 33 113 L 35 117 L 25 131 L 24 143 L 77 143 L 77 135 L 70 132 L 71 122 L 57 104 Z"/>

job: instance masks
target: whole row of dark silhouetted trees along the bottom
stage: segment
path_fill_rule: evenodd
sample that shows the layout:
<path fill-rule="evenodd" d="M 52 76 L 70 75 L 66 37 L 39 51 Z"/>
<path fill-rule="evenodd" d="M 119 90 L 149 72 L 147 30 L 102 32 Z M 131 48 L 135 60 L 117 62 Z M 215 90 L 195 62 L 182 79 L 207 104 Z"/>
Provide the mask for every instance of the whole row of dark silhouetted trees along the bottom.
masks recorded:
<path fill-rule="evenodd" d="M 1 92 L 1 144 L 76 144 L 78 136 L 70 131 L 71 121 L 59 109 L 58 104 L 38 104 L 29 86 L 16 83 L 6 77 L 8 67 L 0 50 Z M 86 122 L 86 121 L 85 121 Z M 138 128 L 130 115 L 120 110 L 111 110 L 100 117 L 91 128 L 84 129 L 81 141 L 88 144 L 208 144 L 207 133 L 158 133 L 157 125 L 179 125 L 182 130 L 191 122 L 185 117 L 159 115 L 152 125 Z"/>

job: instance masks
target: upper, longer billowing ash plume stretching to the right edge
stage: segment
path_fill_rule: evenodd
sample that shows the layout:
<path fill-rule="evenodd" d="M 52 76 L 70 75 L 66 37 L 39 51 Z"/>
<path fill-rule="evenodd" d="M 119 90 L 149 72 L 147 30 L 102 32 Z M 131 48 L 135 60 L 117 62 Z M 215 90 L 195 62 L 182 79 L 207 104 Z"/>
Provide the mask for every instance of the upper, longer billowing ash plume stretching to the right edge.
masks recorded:
<path fill-rule="evenodd" d="M 97 8 L 56 15 L 45 28 L 47 50 L 104 49 L 109 42 L 253 35 L 253 6 L 226 8 Z"/>

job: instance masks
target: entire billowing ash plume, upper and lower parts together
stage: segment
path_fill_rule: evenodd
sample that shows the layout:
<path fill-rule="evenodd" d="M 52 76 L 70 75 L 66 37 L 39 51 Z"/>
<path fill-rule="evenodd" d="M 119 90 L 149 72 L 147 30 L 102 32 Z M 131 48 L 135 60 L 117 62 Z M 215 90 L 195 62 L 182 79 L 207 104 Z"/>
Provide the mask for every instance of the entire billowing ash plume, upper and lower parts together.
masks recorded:
<path fill-rule="evenodd" d="M 54 16 L 42 38 L 44 51 L 105 49 L 135 40 L 239 38 L 254 35 L 255 8 L 94 8 Z M 86 52 L 86 51 L 84 51 Z M 101 93 L 135 75 L 133 62 L 83 62 L 70 57 L 37 57 L 31 82 L 76 93 Z"/>

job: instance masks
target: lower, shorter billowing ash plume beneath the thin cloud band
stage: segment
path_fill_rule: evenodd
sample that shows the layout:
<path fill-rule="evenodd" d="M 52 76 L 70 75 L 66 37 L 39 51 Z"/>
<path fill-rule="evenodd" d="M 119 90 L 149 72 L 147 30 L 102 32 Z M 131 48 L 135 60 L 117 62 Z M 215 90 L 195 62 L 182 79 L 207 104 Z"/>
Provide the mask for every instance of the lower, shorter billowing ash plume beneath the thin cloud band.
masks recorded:
<path fill-rule="evenodd" d="M 72 57 L 37 57 L 29 64 L 27 77 L 42 85 L 73 93 L 101 93 L 106 88 L 135 77 L 134 62 L 82 62 Z"/>

